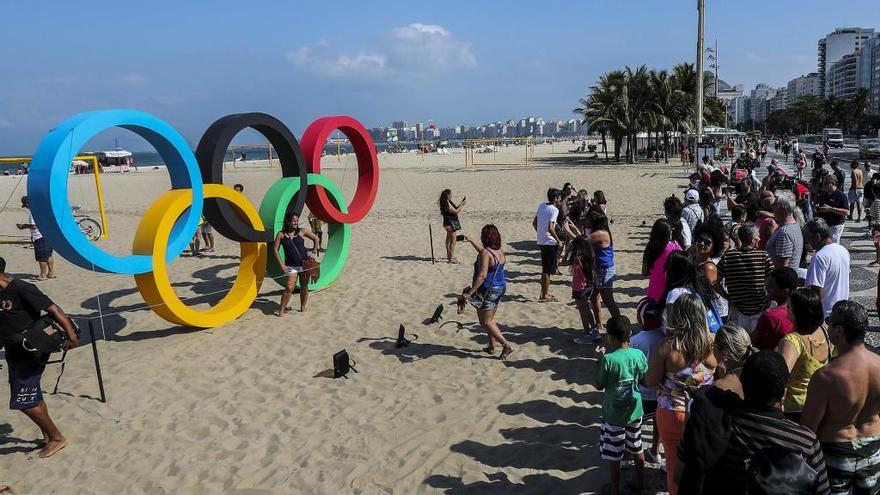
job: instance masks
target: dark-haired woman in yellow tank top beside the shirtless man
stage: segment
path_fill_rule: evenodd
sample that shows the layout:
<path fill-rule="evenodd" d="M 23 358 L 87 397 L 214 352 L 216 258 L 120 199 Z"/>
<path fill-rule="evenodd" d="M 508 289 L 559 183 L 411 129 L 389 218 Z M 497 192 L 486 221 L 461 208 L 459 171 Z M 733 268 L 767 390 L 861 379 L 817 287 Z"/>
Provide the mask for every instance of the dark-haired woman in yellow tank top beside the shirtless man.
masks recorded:
<path fill-rule="evenodd" d="M 782 410 L 788 419 L 798 423 L 810 378 L 831 361 L 832 348 L 825 329 L 822 299 L 812 289 L 802 287 L 791 293 L 788 319 L 794 322 L 794 331 L 779 341 L 776 352 L 782 354 L 791 372 Z"/>

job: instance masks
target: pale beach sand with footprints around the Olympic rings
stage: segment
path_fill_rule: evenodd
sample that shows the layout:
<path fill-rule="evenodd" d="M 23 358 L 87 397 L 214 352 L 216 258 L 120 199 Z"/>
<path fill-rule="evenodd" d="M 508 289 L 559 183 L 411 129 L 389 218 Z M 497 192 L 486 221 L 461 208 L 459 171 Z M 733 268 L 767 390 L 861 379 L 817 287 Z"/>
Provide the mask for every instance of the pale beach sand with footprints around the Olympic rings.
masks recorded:
<path fill-rule="evenodd" d="M 211 330 L 175 327 L 144 309 L 133 277 L 56 257 L 58 278 L 39 287 L 83 326 L 99 307 L 105 315 L 108 340 L 99 351 L 108 402 L 96 399 L 89 346 L 69 354 L 56 395 L 48 392 L 59 367 L 50 365 L 43 388 L 70 444 L 52 458 L 29 459 L 39 432 L 8 411 L 0 420 L 0 484 L 19 494 L 599 492 L 608 475 L 597 445 L 602 393 L 590 385 L 595 359 L 590 346 L 572 343 L 580 322 L 567 273 L 553 281 L 561 302 L 537 302 L 532 217 L 550 186 L 605 192 L 618 302 L 635 321 L 646 286 L 642 249 L 683 173 L 677 162 L 586 164 L 566 148 L 539 146 L 532 166 L 522 164 L 523 148 L 478 155 L 482 163 L 467 168 L 461 154 L 381 154 L 376 203 L 352 228 L 342 276 L 312 294 L 308 312 L 283 319 L 272 316 L 279 286 L 266 280 L 240 319 Z M 353 157 L 326 157 L 324 168 L 350 198 Z M 278 176 L 277 168 L 237 169 L 224 180 L 244 184 L 258 206 Z M 27 218 L 17 208 L 25 182 L 0 177 L 0 198 L 12 197 L 0 213 L 3 239 L 22 233 L 14 225 Z M 71 203 L 96 214 L 93 178 L 69 184 Z M 128 254 L 168 176 L 107 174 L 103 185 L 110 230 L 99 245 Z M 469 285 L 476 253 L 460 243 L 460 264 L 440 261 L 436 202 L 444 188 L 456 201 L 468 198 L 464 233 L 478 238 L 486 223 L 501 231 L 510 283 L 498 321 L 516 348 L 506 362 L 480 351 L 487 339 L 473 309 L 456 316 L 448 305 Z M 215 253 L 180 258 L 170 269 L 177 294 L 201 296 L 194 300 L 201 308 L 222 297 L 238 266 L 238 245 L 216 237 Z M 8 272 L 34 273 L 31 249 L 4 245 L 0 252 Z M 424 325 L 441 303 L 443 321 L 453 323 Z M 292 304 L 298 307 L 296 296 Z M 418 340 L 398 350 L 400 324 Z M 359 373 L 328 378 L 331 355 L 343 348 Z M 0 397 L 7 396 L 4 380 Z M 663 473 L 649 470 L 649 479 L 662 484 Z"/>

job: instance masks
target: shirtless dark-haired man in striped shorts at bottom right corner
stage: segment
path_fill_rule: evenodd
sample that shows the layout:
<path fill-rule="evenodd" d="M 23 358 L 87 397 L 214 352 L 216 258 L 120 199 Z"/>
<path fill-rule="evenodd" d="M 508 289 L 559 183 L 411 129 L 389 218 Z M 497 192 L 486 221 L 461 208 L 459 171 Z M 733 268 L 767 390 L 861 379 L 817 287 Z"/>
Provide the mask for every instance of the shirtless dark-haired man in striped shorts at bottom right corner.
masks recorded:
<path fill-rule="evenodd" d="M 828 317 L 837 358 L 810 380 L 801 424 L 816 432 L 832 493 L 880 491 L 880 356 L 865 348 L 868 313 L 839 301 Z"/>

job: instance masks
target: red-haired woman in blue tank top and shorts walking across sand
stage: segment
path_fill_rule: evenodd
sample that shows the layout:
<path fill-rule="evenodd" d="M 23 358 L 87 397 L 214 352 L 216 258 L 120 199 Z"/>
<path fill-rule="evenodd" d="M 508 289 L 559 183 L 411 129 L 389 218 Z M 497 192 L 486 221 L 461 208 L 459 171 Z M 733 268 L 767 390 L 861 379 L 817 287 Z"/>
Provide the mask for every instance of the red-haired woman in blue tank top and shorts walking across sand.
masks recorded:
<path fill-rule="evenodd" d="M 501 304 L 501 298 L 507 291 L 507 280 L 504 278 L 504 263 L 506 258 L 501 250 L 501 233 L 498 227 L 486 225 L 480 232 L 480 242 L 477 244 L 469 237 L 465 240 L 479 253 L 474 261 L 474 278 L 471 286 L 466 288 L 458 297 L 458 312 L 464 312 L 465 303 L 477 309 L 480 325 L 489 334 L 489 346 L 483 351 L 495 354 L 495 342 L 501 344 L 499 359 L 507 359 L 513 352 L 510 342 L 501 334 L 498 323 L 495 321 L 495 312 Z"/>

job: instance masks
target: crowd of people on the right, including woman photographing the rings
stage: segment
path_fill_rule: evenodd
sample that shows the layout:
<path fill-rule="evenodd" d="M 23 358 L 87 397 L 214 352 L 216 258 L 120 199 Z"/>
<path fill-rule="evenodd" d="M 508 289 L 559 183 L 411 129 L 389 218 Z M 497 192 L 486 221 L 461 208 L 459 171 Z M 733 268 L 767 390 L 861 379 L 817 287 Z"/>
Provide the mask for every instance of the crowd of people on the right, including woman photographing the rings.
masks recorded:
<path fill-rule="evenodd" d="M 599 448 L 612 493 L 625 457 L 636 487 L 647 460 L 664 468 L 673 495 L 770 493 L 758 490 L 779 479 L 791 480 L 786 493 L 880 492 L 880 357 L 865 347 L 867 311 L 849 300 L 840 244 L 870 201 L 880 263 L 880 188 L 869 165 L 853 162 L 844 195 L 839 163 L 826 169 L 824 153 L 802 180 L 802 148 L 790 168 L 771 159 L 759 179 L 766 148 L 752 143 L 729 165 L 705 157 L 683 198 L 666 198 L 643 253 L 648 287 L 635 324 L 614 300 L 604 194 L 565 184 L 537 208 L 539 301 L 557 300 L 550 282 L 568 266 L 584 332 L 575 342 L 595 346 L 593 381 L 605 391 Z M 454 213 L 460 228 L 461 204 L 444 197 L 444 224 Z M 479 255 L 459 308 L 477 307 L 485 351 L 500 342 L 503 359 L 512 349 L 495 322 L 506 290 L 497 232 L 465 237 Z M 643 427 L 654 432 L 647 450 Z"/>

